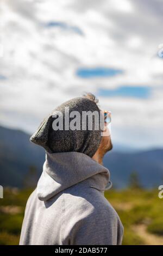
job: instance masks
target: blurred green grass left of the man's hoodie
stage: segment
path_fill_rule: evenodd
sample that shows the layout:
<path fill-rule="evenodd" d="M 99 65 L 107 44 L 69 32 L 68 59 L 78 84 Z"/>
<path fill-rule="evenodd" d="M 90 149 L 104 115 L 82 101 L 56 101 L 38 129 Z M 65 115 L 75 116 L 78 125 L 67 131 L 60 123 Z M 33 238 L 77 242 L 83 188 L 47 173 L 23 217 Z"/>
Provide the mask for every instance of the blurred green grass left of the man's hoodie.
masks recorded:
<path fill-rule="evenodd" d="M 27 199 L 32 190 L 6 188 L 0 203 L 0 245 L 18 245 Z"/>

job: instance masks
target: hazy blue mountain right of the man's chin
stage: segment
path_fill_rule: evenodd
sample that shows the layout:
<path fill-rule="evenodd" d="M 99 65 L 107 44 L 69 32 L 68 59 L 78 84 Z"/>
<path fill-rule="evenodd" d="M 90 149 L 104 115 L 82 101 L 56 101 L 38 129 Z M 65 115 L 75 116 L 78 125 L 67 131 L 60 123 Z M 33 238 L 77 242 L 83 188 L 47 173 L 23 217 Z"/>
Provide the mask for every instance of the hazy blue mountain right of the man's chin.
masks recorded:
<path fill-rule="evenodd" d="M 154 149 L 136 153 L 110 152 L 104 157 L 104 166 L 110 170 L 111 180 L 117 188 L 129 185 L 130 175 L 137 173 L 143 187 L 163 184 L 163 150 Z"/>

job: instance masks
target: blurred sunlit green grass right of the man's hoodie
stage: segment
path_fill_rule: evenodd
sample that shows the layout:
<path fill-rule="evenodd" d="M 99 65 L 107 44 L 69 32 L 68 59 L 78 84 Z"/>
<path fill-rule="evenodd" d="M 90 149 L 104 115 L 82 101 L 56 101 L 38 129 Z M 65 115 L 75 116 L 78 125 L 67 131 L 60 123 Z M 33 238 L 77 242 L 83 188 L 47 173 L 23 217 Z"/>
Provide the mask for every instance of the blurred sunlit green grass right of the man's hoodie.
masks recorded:
<path fill-rule="evenodd" d="M 123 245 L 148 244 L 147 236 L 150 233 L 155 235 L 155 240 L 158 235 L 162 236 L 163 245 L 163 200 L 159 199 L 158 190 L 110 190 L 105 192 L 105 197 L 114 206 L 123 223 Z M 146 228 L 146 236 L 135 228 L 141 225 Z"/>

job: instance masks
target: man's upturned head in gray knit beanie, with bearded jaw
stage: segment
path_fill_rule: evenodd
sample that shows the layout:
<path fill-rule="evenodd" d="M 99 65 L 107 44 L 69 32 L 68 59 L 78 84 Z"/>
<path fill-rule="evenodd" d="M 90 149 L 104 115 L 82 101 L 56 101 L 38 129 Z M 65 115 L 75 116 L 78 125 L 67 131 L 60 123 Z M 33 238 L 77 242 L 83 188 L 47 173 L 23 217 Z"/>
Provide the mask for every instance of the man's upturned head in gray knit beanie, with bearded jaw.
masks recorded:
<path fill-rule="evenodd" d="M 101 126 L 92 115 L 92 126 L 89 128 L 87 113 L 101 115 L 101 109 L 92 94 L 77 97 L 62 103 L 43 120 L 39 129 L 30 138 L 30 141 L 41 145 L 48 153 L 62 153 L 76 151 L 93 157 L 97 151 L 102 156 L 111 149 L 110 136 L 101 136 Z M 68 113 L 67 113 L 68 108 Z M 83 121 L 83 113 L 86 119 Z M 88 118 L 88 119 L 87 119 Z M 67 120 L 68 126 L 67 129 Z M 84 128 L 83 128 L 84 125 Z"/>

